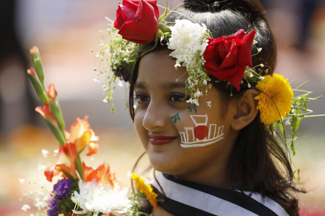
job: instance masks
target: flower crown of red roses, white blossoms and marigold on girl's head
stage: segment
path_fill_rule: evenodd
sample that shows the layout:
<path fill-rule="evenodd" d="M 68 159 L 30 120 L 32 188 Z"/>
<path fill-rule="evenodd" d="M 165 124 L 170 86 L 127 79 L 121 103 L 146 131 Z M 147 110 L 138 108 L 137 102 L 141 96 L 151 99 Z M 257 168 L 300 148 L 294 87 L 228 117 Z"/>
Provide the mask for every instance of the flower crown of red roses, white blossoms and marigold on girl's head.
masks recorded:
<path fill-rule="evenodd" d="M 109 29 L 100 31 L 101 49 L 97 54 L 101 62 L 97 75 L 104 75 L 103 93 L 108 92 L 104 102 L 109 103 L 112 99 L 115 89 L 112 83 L 116 82 L 116 78 L 120 79 L 119 86 L 123 86 L 121 80 L 130 80 L 138 51 L 144 44 L 154 42 L 152 48 L 141 56 L 153 50 L 158 43 L 166 44 L 172 50 L 170 56 L 176 59 L 175 69 L 186 67 L 188 78 L 185 90 L 191 96 L 187 102 L 199 105 L 199 97 L 207 95 L 213 82 L 226 81 L 227 85 L 231 85 L 231 88 L 233 86 L 237 91 L 243 86 L 245 89 L 259 90 L 261 93 L 255 99 L 258 100 L 261 122 L 272 124 L 273 127 L 292 124 L 293 146 L 295 130 L 300 120 L 311 113 L 306 109 L 306 102 L 317 99 L 308 98 L 311 93 L 308 91 L 293 97 L 293 91 L 299 91 L 306 83 L 292 90 L 288 79 L 279 74 L 273 74 L 273 77 L 268 75 L 268 69 L 263 69 L 264 64 L 253 66 L 252 56 L 262 50 L 255 46 L 255 30 L 247 33 L 240 29 L 233 35 L 213 38 L 205 24 L 199 24 L 185 15 L 183 16 L 187 19 L 177 19 L 175 22 L 164 20 L 170 13 L 179 13 L 170 10 L 167 5 L 168 0 L 166 7 L 163 7 L 164 13 L 159 16 L 156 0 L 123 0 L 118 5 L 115 22 L 106 18 L 111 24 Z M 110 36 L 107 42 L 103 40 L 105 33 Z M 256 49 L 253 55 L 252 46 Z M 99 82 L 99 77 L 95 81 Z M 113 103 L 111 112 L 114 112 Z M 290 117 L 286 117 L 287 114 Z M 286 124 L 282 120 L 287 120 Z M 284 135 L 282 128 L 281 131 Z"/>

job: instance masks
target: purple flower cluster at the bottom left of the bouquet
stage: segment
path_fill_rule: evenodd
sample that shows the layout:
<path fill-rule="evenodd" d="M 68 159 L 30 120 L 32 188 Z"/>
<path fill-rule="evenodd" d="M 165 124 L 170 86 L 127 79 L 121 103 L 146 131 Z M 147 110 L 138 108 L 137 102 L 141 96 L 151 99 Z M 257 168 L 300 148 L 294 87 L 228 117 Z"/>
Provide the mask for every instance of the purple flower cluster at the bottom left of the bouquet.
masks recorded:
<path fill-rule="evenodd" d="M 47 210 L 48 216 L 58 216 L 59 214 L 59 202 L 63 198 L 69 197 L 69 190 L 72 186 L 72 180 L 63 178 L 57 184 L 53 186 L 52 199 L 50 199 L 49 209 Z M 54 196 L 53 196 L 54 195 Z"/>

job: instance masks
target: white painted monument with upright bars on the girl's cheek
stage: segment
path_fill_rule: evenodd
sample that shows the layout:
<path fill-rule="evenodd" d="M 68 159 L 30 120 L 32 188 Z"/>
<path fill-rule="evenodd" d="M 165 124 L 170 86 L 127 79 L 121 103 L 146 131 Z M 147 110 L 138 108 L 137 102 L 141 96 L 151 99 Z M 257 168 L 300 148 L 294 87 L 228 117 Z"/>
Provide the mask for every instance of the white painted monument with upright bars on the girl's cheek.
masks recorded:
<path fill-rule="evenodd" d="M 192 121 L 195 124 L 195 127 L 197 126 L 206 126 L 208 124 L 208 115 L 190 115 Z M 201 123 L 198 123 L 201 122 Z M 201 147 L 201 146 L 207 146 L 212 143 L 215 143 L 221 139 L 224 138 L 224 133 L 223 133 L 223 128 L 224 126 L 219 126 L 218 131 L 217 131 L 217 125 L 216 124 L 210 124 L 209 125 L 209 130 L 207 133 L 207 136 L 203 139 L 198 139 L 194 135 L 194 129 L 193 127 L 184 127 L 185 132 L 179 132 L 181 136 L 181 146 L 184 148 L 189 148 L 189 147 Z M 192 139 L 189 140 L 189 134 L 192 134 Z"/>

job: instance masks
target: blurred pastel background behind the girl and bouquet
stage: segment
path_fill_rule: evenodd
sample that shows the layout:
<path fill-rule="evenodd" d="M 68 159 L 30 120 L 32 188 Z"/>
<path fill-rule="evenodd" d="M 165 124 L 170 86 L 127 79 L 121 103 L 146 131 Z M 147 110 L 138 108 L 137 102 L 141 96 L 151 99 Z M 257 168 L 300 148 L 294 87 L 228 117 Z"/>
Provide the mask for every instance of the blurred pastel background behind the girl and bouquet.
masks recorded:
<path fill-rule="evenodd" d="M 0 23 L 0 216 L 30 215 L 36 211 L 25 191 L 37 190 L 30 181 L 43 177 L 42 168 L 53 164 L 58 143 L 43 118 L 34 111 L 42 105 L 26 69 L 32 66 L 29 49 L 40 49 L 45 86 L 55 83 L 66 129 L 76 117 L 89 115 L 100 137 L 100 151 L 84 156 L 97 167 L 104 160 L 121 184 L 129 186 L 127 172 L 143 152 L 128 110 L 125 88 L 114 92 L 116 111 L 110 114 L 102 102 L 101 84 L 94 82 L 98 30 L 116 18 L 118 0 L 10 0 L 1 6 Z M 325 93 L 325 5 L 321 0 L 263 0 L 271 28 L 279 44 L 276 73 L 294 81 L 296 87 L 310 80 L 305 89 L 312 96 Z M 179 1 L 170 1 L 176 6 Z M 164 0 L 158 0 L 164 5 Z M 99 36 L 99 37 L 97 37 Z M 91 50 L 94 50 L 92 53 Z M 325 113 L 325 98 L 310 102 L 314 114 Z M 325 215 L 325 119 L 306 119 L 298 130 L 294 167 L 301 169 L 301 182 L 310 190 L 301 197 L 301 215 Z M 41 150 L 50 151 L 44 158 Z M 146 167 L 144 158 L 141 166 Z M 25 179 L 21 184 L 19 179 Z M 21 180 L 22 181 L 22 180 Z M 22 198 L 19 200 L 19 198 Z M 22 211 L 23 204 L 31 209 Z"/>

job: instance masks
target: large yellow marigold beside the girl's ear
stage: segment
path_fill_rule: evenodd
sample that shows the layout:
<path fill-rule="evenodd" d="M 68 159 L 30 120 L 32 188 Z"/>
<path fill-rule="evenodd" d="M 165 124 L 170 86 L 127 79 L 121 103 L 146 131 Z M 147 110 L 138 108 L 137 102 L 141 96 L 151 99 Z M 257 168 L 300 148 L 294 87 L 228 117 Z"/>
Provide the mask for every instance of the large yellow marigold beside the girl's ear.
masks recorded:
<path fill-rule="evenodd" d="M 290 112 L 293 92 L 288 79 L 279 74 L 273 74 L 273 78 L 266 75 L 262 81 L 258 81 L 256 88 L 265 92 L 275 103 L 274 105 L 263 92 L 255 97 L 255 100 L 258 100 L 257 109 L 260 110 L 262 123 L 271 124 L 284 118 Z"/>

